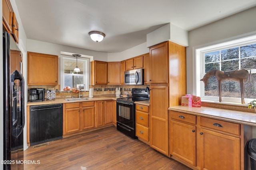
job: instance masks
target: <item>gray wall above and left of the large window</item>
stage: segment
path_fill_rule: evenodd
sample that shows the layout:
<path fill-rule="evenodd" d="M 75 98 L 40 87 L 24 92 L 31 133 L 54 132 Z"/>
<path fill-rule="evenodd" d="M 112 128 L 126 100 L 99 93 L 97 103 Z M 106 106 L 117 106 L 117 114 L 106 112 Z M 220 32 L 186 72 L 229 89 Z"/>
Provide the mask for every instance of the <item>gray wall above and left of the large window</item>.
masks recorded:
<path fill-rule="evenodd" d="M 195 51 L 193 49 L 255 35 L 255 16 L 256 7 L 188 32 L 189 47 L 186 48 L 187 94 L 195 94 L 193 83 L 193 80 L 196 80 L 193 77 Z"/>

